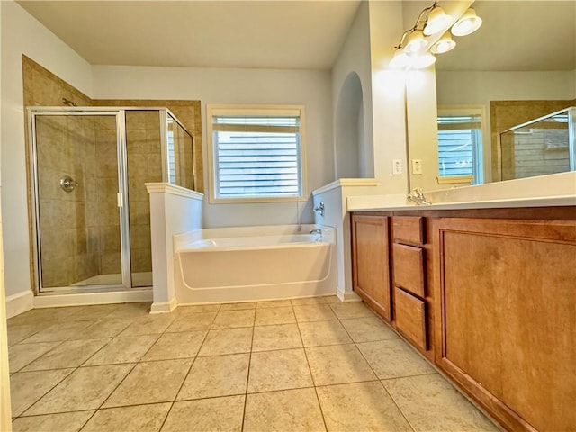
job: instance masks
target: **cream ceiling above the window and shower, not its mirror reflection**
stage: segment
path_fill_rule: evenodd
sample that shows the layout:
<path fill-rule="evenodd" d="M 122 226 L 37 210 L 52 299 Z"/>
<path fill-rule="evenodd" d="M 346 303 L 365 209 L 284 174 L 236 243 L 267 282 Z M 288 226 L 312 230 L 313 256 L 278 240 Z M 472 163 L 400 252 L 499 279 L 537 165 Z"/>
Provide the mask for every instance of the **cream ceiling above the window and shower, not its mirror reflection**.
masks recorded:
<path fill-rule="evenodd" d="M 18 4 L 93 65 L 328 70 L 360 0 Z"/>

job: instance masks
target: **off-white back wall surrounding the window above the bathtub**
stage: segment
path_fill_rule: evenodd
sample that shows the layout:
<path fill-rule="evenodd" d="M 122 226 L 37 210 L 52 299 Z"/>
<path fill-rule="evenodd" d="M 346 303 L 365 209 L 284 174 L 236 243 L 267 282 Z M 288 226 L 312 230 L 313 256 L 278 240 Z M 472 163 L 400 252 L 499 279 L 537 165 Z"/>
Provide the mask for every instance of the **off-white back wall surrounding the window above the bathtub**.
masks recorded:
<path fill-rule="evenodd" d="M 95 66 L 94 98 L 193 99 L 202 101 L 202 141 L 207 164 L 206 103 L 303 104 L 306 110 L 307 202 L 210 204 L 205 228 L 312 222 L 311 191 L 334 179 L 329 72 L 197 67 Z M 208 170 L 204 169 L 204 184 Z M 208 194 L 208 191 L 205 191 Z"/>

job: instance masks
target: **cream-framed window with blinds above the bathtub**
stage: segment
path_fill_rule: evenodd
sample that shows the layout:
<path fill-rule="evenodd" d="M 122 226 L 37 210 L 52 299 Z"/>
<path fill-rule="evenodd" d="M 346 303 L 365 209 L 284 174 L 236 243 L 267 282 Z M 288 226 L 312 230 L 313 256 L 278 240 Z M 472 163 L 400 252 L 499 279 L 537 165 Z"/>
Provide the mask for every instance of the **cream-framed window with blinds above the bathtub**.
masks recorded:
<path fill-rule="evenodd" d="M 302 107 L 208 106 L 211 201 L 303 195 Z"/>

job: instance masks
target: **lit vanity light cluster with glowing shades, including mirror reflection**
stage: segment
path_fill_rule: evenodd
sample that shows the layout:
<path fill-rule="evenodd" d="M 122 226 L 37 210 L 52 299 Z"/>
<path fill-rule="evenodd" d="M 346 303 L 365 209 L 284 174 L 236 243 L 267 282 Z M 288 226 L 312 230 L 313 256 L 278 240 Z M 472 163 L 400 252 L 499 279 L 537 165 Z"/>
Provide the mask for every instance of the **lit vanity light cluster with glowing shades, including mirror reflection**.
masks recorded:
<path fill-rule="evenodd" d="M 434 2 L 431 6 L 420 12 L 414 27 L 402 33 L 400 43 L 394 52 L 390 67 L 395 69 L 415 68 L 421 69 L 433 65 L 436 62 L 434 54 L 443 54 L 454 49 L 455 36 L 465 36 L 478 30 L 482 25 L 480 18 L 473 8 L 469 8 L 456 21 L 452 29 L 448 31 L 453 17 L 446 14 L 444 9 Z M 428 37 L 444 31 L 445 33 L 431 47 Z"/>

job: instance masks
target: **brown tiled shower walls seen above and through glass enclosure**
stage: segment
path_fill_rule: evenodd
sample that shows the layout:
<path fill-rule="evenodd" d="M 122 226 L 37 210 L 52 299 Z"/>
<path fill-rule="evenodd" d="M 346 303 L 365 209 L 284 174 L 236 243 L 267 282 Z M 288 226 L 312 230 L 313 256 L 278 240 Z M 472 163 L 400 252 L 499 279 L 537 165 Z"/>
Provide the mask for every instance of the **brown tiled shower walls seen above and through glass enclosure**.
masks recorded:
<path fill-rule="evenodd" d="M 93 100 L 25 56 L 23 56 L 23 83 L 25 106 L 63 106 L 63 98 L 79 106 L 166 106 L 193 134 L 195 190 L 203 191 L 202 121 L 199 101 Z M 145 117 L 143 120 L 136 119 L 128 127 L 132 272 L 151 270 L 149 204 L 144 183 L 161 181 L 159 118 L 157 112 L 148 112 L 148 114 L 142 114 Z M 41 228 L 44 257 L 50 260 L 49 266 L 44 269 L 45 273 L 49 273 L 44 275 L 46 286 L 72 284 L 99 273 L 121 272 L 120 228 L 116 202 L 118 189 L 115 124 L 112 117 L 103 120 L 98 116 L 97 119 L 93 119 L 93 124 L 90 126 L 81 125 L 80 119 L 82 118 L 78 117 L 74 121 L 76 124 L 71 125 L 71 131 L 72 134 L 76 133 L 83 137 L 84 147 L 68 152 L 69 158 L 64 157 L 64 153 L 60 151 L 65 142 L 61 135 L 65 133 L 63 130 L 66 130 L 66 128 L 61 129 L 60 126 L 67 126 L 66 124 L 54 123 L 49 128 L 47 125 L 47 129 L 42 132 L 45 135 L 51 133 L 49 130 L 55 133 L 54 137 L 49 138 L 49 146 L 45 148 L 46 153 L 42 157 L 62 165 L 72 164 L 75 166 L 74 169 L 81 168 L 79 165 L 82 165 L 81 159 L 84 157 L 83 163 L 85 164 L 82 166 L 85 170 L 82 175 L 85 175 L 85 178 L 78 180 L 80 185 L 73 193 L 74 196 L 48 195 L 43 197 L 44 202 L 49 206 L 49 210 L 44 211 L 45 216 L 50 220 L 45 221 Z M 152 125 L 156 130 L 151 130 Z M 135 128 L 133 131 L 130 131 L 131 126 Z M 28 134 L 28 125 L 26 125 L 26 134 Z M 94 142 L 89 137 L 94 137 Z M 77 139 L 72 139 L 72 141 L 80 142 Z M 88 142 L 89 144 L 86 144 Z M 82 151 L 85 152 L 83 155 Z M 27 148 L 28 167 L 30 167 L 29 160 L 30 154 Z M 57 193 L 58 180 L 64 171 L 73 172 L 74 178 L 81 176 L 76 174 L 76 171 L 71 171 L 72 167 L 59 171 L 56 167 L 50 167 L 50 169 L 53 172 L 50 175 L 46 174 L 49 178 L 40 180 L 41 184 L 45 184 L 44 187 L 49 193 Z M 29 178 L 31 178 L 30 175 Z M 93 179 L 97 185 L 92 185 Z M 31 184 L 28 190 L 29 214 L 31 214 Z M 49 225 L 52 222 L 53 225 Z M 82 233 L 84 235 L 80 238 Z M 30 226 L 31 245 L 35 242 L 35 235 L 33 227 Z M 34 268 L 31 254 L 32 285 L 35 285 Z"/>

